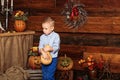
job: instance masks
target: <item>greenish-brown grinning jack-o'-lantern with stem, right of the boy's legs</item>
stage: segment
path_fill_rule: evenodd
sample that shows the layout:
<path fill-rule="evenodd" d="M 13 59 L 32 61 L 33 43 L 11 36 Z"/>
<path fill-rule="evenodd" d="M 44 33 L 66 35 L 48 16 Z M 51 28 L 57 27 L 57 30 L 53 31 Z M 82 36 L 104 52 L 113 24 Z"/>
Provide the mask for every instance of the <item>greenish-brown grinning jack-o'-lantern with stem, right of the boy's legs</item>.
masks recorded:
<path fill-rule="evenodd" d="M 73 67 L 73 60 L 70 57 L 59 57 L 57 69 L 58 70 L 70 70 Z"/>

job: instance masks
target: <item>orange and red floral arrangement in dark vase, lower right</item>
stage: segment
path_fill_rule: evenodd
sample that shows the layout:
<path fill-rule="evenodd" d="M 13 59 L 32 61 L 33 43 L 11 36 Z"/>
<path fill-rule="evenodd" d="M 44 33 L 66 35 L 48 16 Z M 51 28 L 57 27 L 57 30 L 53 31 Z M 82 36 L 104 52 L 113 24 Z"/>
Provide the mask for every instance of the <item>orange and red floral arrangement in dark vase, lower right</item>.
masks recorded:
<path fill-rule="evenodd" d="M 90 76 L 90 80 L 96 80 L 97 78 L 97 70 L 103 70 L 104 67 L 104 59 L 101 56 L 99 60 L 96 60 L 93 55 L 89 55 L 86 59 L 80 59 L 78 61 L 80 66 L 88 69 L 88 74 Z"/>

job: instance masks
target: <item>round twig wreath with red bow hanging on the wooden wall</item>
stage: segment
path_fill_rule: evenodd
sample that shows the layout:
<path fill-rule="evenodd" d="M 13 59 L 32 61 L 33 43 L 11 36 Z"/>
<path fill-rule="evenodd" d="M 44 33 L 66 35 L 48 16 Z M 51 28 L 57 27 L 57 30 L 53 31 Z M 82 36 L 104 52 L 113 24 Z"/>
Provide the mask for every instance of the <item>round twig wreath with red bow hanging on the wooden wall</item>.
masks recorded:
<path fill-rule="evenodd" d="M 73 0 L 66 0 L 62 15 L 65 16 L 65 23 L 69 28 L 78 28 L 87 20 L 87 12 L 83 9 L 84 5 Z"/>

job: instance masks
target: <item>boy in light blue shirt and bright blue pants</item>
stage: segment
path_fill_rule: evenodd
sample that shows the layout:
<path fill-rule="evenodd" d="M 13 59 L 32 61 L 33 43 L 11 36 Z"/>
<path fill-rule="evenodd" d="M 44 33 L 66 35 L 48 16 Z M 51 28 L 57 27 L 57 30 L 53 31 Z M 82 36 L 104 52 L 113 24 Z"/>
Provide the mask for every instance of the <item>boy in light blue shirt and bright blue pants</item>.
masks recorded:
<path fill-rule="evenodd" d="M 50 17 L 45 19 L 42 23 L 44 34 L 40 36 L 39 51 L 40 53 L 50 51 L 52 56 L 52 62 L 49 65 L 42 64 L 42 80 L 55 80 L 54 74 L 57 67 L 58 51 L 60 49 L 60 36 L 58 33 L 54 32 L 54 24 L 55 21 Z M 49 45 L 49 47 L 45 45 Z M 48 55 L 42 55 L 48 58 Z"/>

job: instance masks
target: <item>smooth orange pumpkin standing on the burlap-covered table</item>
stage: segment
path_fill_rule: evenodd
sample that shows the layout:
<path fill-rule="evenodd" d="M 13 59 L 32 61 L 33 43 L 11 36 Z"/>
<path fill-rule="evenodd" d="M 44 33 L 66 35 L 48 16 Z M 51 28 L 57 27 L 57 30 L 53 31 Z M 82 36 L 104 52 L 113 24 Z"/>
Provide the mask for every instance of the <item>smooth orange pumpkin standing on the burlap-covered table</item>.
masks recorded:
<path fill-rule="evenodd" d="M 15 20 L 14 28 L 17 32 L 22 32 L 26 29 L 26 23 L 23 20 Z"/>

